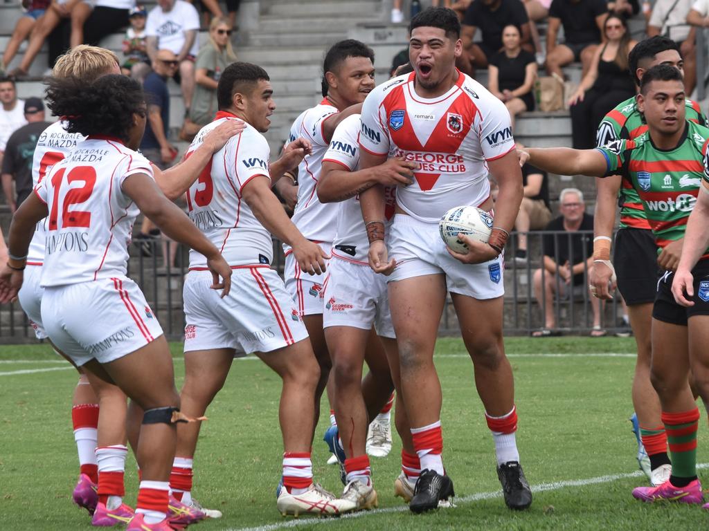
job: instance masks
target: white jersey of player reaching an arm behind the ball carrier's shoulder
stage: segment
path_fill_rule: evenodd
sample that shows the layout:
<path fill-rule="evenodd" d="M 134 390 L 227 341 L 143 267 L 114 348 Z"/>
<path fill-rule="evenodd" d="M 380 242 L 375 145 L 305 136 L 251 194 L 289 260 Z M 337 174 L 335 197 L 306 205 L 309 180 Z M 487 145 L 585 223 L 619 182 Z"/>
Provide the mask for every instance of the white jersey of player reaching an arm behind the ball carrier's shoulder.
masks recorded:
<path fill-rule="evenodd" d="M 323 156 L 330 145 L 323 135 L 323 125 L 328 117 L 337 112 L 337 108 L 323 99 L 315 107 L 304 110 L 291 125 L 290 142 L 303 137 L 313 145 L 313 152 L 298 166 L 298 202 L 291 218 L 301 234 L 312 241 L 330 242 L 335 237 L 337 206 L 321 203 L 316 186 L 320 180 Z M 284 249 L 287 251 L 289 248 L 284 246 Z"/>

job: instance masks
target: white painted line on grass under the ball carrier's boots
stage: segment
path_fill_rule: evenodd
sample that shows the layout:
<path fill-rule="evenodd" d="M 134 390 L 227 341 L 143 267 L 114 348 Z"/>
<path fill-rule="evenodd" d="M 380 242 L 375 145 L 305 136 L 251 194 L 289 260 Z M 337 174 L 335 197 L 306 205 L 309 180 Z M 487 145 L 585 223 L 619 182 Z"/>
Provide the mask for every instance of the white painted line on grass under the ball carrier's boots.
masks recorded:
<path fill-rule="evenodd" d="M 698 469 L 709 468 L 709 463 L 697 464 Z M 554 481 L 552 483 L 542 483 L 539 485 L 532 485 L 532 492 L 546 492 L 546 491 L 558 491 L 566 487 L 579 487 L 586 485 L 596 485 L 603 483 L 611 483 L 613 481 L 618 481 L 618 479 L 627 479 L 632 477 L 640 477 L 644 474 L 638 470 L 637 472 L 630 472 L 629 474 L 612 474 L 608 476 L 598 476 L 591 477 L 587 479 L 569 479 L 566 481 Z M 502 496 L 502 491 L 490 491 L 481 492 L 476 494 L 469 494 L 468 496 L 463 496 L 462 498 L 454 498 L 454 503 L 456 506 L 467 505 L 468 503 L 473 503 L 480 500 L 489 500 L 490 498 L 498 498 Z M 454 510 L 454 509 L 442 509 L 442 510 Z M 408 506 L 401 505 L 396 507 L 385 507 L 381 509 L 374 510 L 363 510 L 359 513 L 350 513 L 347 515 L 342 515 L 340 518 L 303 518 L 302 520 L 285 520 L 281 523 L 261 525 L 259 527 L 229 527 L 224 531 L 275 531 L 279 529 L 293 529 L 296 527 L 315 527 L 316 525 L 323 524 L 334 524 L 340 520 L 352 519 L 352 518 L 362 518 L 364 516 L 381 515 L 386 513 L 403 513 L 408 511 Z"/>

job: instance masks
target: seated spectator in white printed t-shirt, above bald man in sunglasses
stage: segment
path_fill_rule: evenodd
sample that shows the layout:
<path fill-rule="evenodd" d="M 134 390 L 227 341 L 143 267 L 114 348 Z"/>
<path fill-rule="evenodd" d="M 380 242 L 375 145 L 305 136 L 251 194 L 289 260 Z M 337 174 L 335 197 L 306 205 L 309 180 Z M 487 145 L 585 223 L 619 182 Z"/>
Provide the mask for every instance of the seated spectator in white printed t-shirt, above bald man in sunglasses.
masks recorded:
<path fill-rule="evenodd" d="M 175 81 L 179 79 L 186 111 L 189 111 L 194 93 L 198 31 L 199 14 L 192 4 L 184 0 L 158 0 L 157 6 L 147 14 L 147 55 L 153 60 L 157 50 L 170 50 L 177 56 L 179 71 L 176 73 L 179 73 L 179 78 Z"/>

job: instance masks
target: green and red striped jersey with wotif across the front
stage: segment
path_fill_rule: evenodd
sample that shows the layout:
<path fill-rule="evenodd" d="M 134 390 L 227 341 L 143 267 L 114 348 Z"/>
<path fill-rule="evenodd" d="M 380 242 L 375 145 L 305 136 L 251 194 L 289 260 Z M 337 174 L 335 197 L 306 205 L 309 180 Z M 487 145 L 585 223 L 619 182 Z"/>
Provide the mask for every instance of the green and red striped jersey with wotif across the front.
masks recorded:
<path fill-rule="evenodd" d="M 618 139 L 596 148 L 605 156 L 607 175 L 620 174 L 639 195 L 659 247 L 684 237 L 701 180 L 709 181 L 708 138 L 709 129 L 686 122 L 674 149 L 657 149 L 647 131 L 633 140 Z"/>

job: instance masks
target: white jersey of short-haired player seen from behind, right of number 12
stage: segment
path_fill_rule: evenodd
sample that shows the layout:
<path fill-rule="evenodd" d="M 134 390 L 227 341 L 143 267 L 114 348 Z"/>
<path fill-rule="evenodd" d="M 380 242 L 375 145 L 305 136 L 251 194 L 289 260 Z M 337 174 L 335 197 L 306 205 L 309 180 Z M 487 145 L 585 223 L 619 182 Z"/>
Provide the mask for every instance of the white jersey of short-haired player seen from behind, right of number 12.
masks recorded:
<path fill-rule="evenodd" d="M 208 132 L 231 113 L 219 111 L 216 120 L 202 127 L 187 150 L 190 156 Z M 254 127 L 246 125 L 240 135 L 231 137 L 213 154 L 199 178 L 187 190 L 188 215 L 211 241 L 229 265 L 269 264 L 273 261 L 271 233 L 256 219 L 241 198 L 242 188 L 257 176 L 271 178 L 267 140 Z M 189 251 L 190 269 L 207 267 L 206 258 Z"/>

